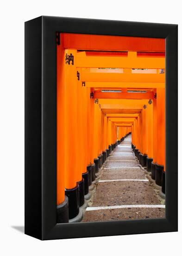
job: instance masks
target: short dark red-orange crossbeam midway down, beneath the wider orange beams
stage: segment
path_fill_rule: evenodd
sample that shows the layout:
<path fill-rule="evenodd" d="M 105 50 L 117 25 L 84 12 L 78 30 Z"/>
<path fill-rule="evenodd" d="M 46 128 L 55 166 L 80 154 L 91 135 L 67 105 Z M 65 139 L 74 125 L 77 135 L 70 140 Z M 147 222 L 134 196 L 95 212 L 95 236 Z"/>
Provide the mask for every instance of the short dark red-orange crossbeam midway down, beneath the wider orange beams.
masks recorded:
<path fill-rule="evenodd" d="M 153 93 L 102 93 L 94 92 L 95 99 L 153 99 Z"/>

